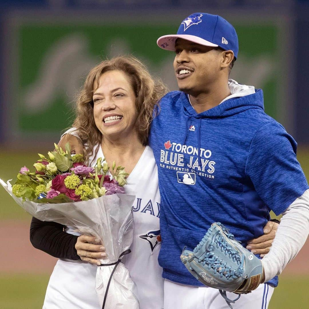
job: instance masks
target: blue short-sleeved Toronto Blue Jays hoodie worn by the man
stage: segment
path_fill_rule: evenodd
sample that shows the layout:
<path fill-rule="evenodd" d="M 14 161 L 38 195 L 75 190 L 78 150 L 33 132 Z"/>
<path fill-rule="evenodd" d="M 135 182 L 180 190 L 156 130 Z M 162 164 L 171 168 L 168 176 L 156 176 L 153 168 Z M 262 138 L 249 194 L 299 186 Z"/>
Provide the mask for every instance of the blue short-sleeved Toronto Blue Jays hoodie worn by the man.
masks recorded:
<path fill-rule="evenodd" d="M 150 146 L 161 195 L 163 277 L 201 285 L 180 261 L 220 221 L 240 240 L 263 234 L 269 211 L 282 213 L 308 189 L 296 142 L 264 113 L 263 92 L 197 114 L 184 92 L 160 101 Z M 270 281 L 277 285 L 277 277 Z"/>

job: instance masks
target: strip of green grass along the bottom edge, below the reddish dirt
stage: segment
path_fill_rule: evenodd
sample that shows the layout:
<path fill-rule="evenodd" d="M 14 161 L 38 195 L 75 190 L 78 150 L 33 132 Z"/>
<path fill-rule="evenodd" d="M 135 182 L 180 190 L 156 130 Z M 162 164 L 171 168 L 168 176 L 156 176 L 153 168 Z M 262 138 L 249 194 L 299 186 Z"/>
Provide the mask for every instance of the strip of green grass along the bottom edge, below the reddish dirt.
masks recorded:
<path fill-rule="evenodd" d="M 42 308 L 49 276 L 4 275 L 0 278 L 1 309 Z M 268 308 L 308 308 L 308 289 L 307 277 L 281 277 Z"/>

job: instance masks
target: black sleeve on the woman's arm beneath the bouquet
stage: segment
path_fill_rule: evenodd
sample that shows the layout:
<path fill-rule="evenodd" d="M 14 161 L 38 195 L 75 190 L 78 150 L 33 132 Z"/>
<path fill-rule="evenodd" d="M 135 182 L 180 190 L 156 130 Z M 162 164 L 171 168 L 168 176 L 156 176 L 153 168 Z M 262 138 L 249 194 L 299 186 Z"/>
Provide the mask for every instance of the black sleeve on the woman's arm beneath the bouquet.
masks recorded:
<path fill-rule="evenodd" d="M 36 249 L 59 259 L 80 260 L 75 249 L 78 236 L 63 231 L 64 225 L 32 218 L 30 241 Z"/>

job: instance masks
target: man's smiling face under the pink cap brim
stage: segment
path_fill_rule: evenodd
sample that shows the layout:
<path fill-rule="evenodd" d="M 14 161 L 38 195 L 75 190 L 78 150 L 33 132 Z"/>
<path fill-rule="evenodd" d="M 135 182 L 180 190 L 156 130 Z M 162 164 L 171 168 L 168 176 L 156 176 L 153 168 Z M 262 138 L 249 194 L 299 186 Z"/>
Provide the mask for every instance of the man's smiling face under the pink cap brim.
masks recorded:
<path fill-rule="evenodd" d="M 222 78 L 222 52 L 217 48 L 179 38 L 175 52 L 174 70 L 181 91 L 197 96 Z"/>

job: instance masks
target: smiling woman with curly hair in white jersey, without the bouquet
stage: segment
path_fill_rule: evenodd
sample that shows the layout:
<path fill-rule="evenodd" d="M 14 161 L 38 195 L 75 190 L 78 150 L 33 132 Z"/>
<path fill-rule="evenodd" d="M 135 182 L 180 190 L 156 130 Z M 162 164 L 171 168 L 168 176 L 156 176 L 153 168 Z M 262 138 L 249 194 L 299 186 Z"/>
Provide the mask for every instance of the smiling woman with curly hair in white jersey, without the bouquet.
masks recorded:
<path fill-rule="evenodd" d="M 78 132 L 89 165 L 104 157 L 109 166 L 116 161 L 129 173 L 125 191 L 136 195 L 135 228 L 132 252 L 122 261 L 137 285 L 141 308 L 147 309 L 163 308 L 158 173 L 147 144 L 153 110 L 166 92 L 165 85 L 136 58 L 102 61 L 86 78 L 77 99 L 75 128 L 69 130 Z M 100 240 L 35 218 L 30 234 L 34 247 L 59 258 L 43 308 L 100 308 L 96 265 L 106 256 Z"/>

